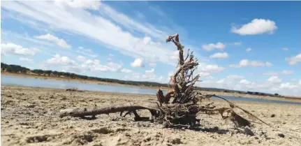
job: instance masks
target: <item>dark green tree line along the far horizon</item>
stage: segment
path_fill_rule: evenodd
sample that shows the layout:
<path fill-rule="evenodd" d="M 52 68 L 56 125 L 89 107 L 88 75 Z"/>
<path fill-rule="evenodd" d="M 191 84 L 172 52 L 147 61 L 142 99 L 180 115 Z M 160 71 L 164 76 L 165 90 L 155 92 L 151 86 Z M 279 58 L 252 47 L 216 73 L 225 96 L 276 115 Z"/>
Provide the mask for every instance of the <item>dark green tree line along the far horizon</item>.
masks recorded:
<path fill-rule="evenodd" d="M 136 85 L 136 86 L 148 86 L 148 87 L 168 87 L 168 84 L 162 84 L 159 82 L 147 82 L 147 81 L 132 81 L 132 80 L 117 80 L 112 78 L 98 78 L 98 77 L 90 77 L 87 75 L 78 75 L 76 73 L 68 73 L 68 72 L 61 72 L 61 71 L 51 71 L 51 70 L 41 70 L 41 69 L 34 69 L 31 70 L 29 68 L 14 65 L 14 64 L 4 64 L 1 62 L 1 71 L 6 71 L 8 73 L 35 73 L 36 75 L 47 75 L 53 77 L 61 77 L 61 78 L 71 78 L 71 79 L 82 79 L 82 80 L 97 80 L 101 82 L 115 82 L 123 85 Z M 230 89 L 218 89 L 218 88 L 210 88 L 210 87 L 196 87 L 197 90 L 204 90 L 204 91 L 212 91 L 212 92 L 228 92 L 228 93 L 240 93 L 240 94 L 254 94 L 254 95 L 261 95 L 261 96 L 280 96 L 279 94 L 267 94 L 261 92 L 242 92 L 237 90 L 230 90 Z"/>

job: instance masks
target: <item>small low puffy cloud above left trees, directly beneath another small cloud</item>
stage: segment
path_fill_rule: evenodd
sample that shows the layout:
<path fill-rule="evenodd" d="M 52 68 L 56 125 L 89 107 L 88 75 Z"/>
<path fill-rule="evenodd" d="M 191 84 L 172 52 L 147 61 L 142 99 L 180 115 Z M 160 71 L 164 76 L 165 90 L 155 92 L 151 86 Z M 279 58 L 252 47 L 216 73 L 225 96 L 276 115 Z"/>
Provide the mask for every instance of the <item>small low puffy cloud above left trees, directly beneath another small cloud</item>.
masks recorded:
<path fill-rule="evenodd" d="M 68 57 L 62 57 L 59 54 L 55 54 L 51 59 L 46 60 L 48 65 L 60 65 L 60 66 L 74 66 L 76 65 L 75 61 L 69 59 Z"/>

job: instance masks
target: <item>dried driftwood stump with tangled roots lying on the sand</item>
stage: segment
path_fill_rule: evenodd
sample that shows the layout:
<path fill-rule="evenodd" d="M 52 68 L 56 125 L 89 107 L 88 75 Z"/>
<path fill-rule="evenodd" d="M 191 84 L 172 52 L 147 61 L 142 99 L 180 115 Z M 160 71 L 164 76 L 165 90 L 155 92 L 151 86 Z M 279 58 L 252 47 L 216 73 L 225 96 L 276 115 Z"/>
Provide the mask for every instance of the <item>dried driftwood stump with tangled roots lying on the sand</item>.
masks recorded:
<path fill-rule="evenodd" d="M 133 113 L 135 115 L 135 120 L 142 120 L 143 118 L 138 115 L 136 110 L 149 110 L 152 119 L 164 124 L 166 127 L 198 126 L 200 123 L 200 119 L 196 119 L 198 114 L 219 114 L 223 119 L 232 121 L 235 126 L 250 126 L 251 122 L 249 122 L 249 120 L 241 117 L 233 110 L 237 108 L 246 113 L 251 119 L 257 119 L 263 124 L 270 126 L 270 124 L 263 122 L 263 120 L 225 98 L 216 95 L 201 94 L 197 91 L 195 84 L 200 81 L 200 76 L 198 74 L 193 75 L 193 72 L 196 71 L 196 68 L 198 67 L 198 59 L 193 56 L 193 52 L 189 53 L 189 50 L 184 59 L 184 45 L 179 43 L 179 34 L 168 36 L 166 42 L 174 43 L 177 50 L 179 50 L 179 62 L 175 74 L 170 78 L 170 89 L 168 92 L 164 95 L 162 90 L 159 89 L 156 93 L 158 103 L 149 103 L 147 105 L 112 105 L 102 108 L 66 109 L 61 110 L 60 117 L 85 117 L 87 115 L 95 116 L 113 112 L 120 112 L 120 115 L 122 115 L 123 112 L 126 112 L 125 115 Z M 214 103 L 202 105 L 203 100 L 210 100 L 213 96 L 228 102 L 229 107 L 216 108 L 213 105 Z"/>

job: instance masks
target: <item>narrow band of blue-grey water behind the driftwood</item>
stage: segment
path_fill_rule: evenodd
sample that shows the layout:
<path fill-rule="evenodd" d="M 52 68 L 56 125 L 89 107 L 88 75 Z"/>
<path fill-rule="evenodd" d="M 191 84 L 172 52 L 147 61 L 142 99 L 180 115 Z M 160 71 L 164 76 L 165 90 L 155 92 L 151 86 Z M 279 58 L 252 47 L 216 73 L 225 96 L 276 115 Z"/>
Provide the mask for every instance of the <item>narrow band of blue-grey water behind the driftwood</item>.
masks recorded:
<path fill-rule="evenodd" d="M 88 90 L 95 92 L 117 92 L 125 94 L 150 94 L 155 95 L 157 89 L 146 89 L 139 87 L 127 87 L 119 85 L 98 85 L 82 82 L 70 82 L 64 80 L 45 80 L 39 78 L 24 78 L 10 75 L 1 75 L 1 85 L 17 85 L 17 86 L 26 86 L 26 87 L 46 87 L 46 88 L 56 88 L 56 89 L 68 89 L 68 88 L 78 88 L 80 90 Z M 277 101 L 277 100 L 268 100 L 260 98 L 243 98 L 243 97 L 234 97 L 234 96 L 223 96 L 231 101 L 258 101 L 265 103 L 291 103 L 291 104 L 300 104 L 298 102 L 292 101 Z"/>

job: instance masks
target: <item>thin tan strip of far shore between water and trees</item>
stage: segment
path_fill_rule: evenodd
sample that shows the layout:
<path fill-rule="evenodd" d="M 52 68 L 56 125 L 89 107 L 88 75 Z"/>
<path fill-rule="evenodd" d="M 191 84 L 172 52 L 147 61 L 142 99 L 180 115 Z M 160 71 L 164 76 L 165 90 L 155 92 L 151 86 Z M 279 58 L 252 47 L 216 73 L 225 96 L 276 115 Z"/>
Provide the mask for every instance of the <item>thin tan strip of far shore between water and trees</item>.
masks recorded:
<path fill-rule="evenodd" d="M 20 76 L 20 77 L 27 77 L 27 78 L 41 78 L 41 79 L 48 79 L 48 80 L 64 80 L 64 81 L 91 83 L 91 84 L 98 84 L 98 85 L 119 85 L 119 86 L 126 86 L 126 87 L 140 87 L 140 88 L 147 88 L 147 89 L 160 89 L 161 88 L 161 89 L 168 90 L 168 87 L 147 87 L 147 86 L 136 86 L 136 85 L 124 85 L 124 84 L 119 84 L 119 83 L 116 83 L 116 82 L 102 82 L 102 81 L 98 81 L 98 80 L 83 80 L 83 79 L 61 78 L 61 77 L 53 77 L 53 76 L 22 74 L 22 73 L 1 72 L 1 75 Z M 301 97 L 259 96 L 259 95 L 250 95 L 250 94 L 240 94 L 240 93 L 230 93 L 230 92 L 211 92 L 211 91 L 201 91 L 201 92 L 206 93 L 206 94 L 216 94 L 216 95 L 219 95 L 219 96 L 235 96 L 235 97 L 245 97 L 245 98 L 263 98 L 263 99 L 272 99 L 272 100 L 279 100 L 279 101 L 297 101 L 297 102 L 301 102 Z"/>

